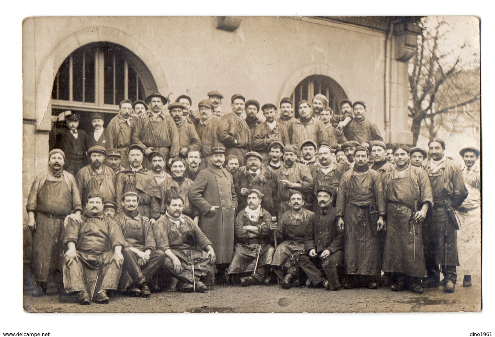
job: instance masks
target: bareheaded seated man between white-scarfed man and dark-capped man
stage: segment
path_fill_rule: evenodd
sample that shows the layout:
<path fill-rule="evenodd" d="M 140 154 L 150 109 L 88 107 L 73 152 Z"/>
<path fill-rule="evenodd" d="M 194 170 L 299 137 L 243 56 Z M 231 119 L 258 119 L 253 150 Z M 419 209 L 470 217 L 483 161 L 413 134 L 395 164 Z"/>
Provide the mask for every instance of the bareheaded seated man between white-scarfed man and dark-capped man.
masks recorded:
<path fill-rule="evenodd" d="M 328 289 L 328 280 L 311 262 L 304 250 L 304 237 L 310 229 L 309 220 L 314 213 L 302 207 L 303 200 L 301 192 L 292 193 L 291 209 L 280 217 L 278 226 L 275 224 L 270 226 L 271 230 L 277 230 L 277 238 L 283 240 L 273 254 L 272 270 L 279 279 L 282 279 L 280 282 L 282 288 L 291 288 L 292 278 L 298 276 L 298 268 L 300 268 L 314 287 L 323 285 Z"/>

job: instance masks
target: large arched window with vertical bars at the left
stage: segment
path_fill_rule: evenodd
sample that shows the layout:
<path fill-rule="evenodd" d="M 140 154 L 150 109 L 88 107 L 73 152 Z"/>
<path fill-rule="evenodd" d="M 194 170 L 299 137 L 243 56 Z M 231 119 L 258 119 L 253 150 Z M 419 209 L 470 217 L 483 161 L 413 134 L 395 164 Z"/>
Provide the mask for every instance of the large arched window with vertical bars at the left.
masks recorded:
<path fill-rule="evenodd" d="M 58 69 L 51 91 L 52 121 L 61 127 L 67 110 L 77 112 L 79 128 L 90 132 L 92 112 L 103 113 L 106 126 L 122 99 L 144 99 L 155 90 L 151 73 L 131 50 L 91 43 L 74 50 Z"/>

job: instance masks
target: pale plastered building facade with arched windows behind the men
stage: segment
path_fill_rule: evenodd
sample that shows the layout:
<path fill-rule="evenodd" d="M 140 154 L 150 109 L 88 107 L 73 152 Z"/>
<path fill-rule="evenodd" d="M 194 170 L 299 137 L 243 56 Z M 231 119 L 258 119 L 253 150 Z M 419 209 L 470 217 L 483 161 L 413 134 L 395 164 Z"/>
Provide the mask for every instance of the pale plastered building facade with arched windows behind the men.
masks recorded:
<path fill-rule="evenodd" d="M 212 90 L 278 105 L 317 93 L 332 109 L 363 100 L 386 141 L 410 144 L 410 17 L 31 17 L 23 22 L 23 206 L 47 169 L 50 131 L 64 111 L 80 128 L 121 99 L 154 91 L 198 101 Z M 26 216 L 25 218 L 26 219 Z"/>

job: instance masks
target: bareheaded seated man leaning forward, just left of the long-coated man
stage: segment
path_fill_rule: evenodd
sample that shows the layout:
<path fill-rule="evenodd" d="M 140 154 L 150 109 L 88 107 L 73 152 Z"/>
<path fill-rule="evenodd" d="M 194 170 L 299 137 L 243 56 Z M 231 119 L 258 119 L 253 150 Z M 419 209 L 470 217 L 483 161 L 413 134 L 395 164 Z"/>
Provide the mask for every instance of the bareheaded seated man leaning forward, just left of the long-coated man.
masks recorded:
<path fill-rule="evenodd" d="M 179 291 L 204 292 L 213 284 L 215 252 L 211 242 L 190 217 L 182 214 L 184 199 L 171 195 L 167 211 L 153 226 L 158 249 L 165 252 L 164 267 L 180 282 Z"/>

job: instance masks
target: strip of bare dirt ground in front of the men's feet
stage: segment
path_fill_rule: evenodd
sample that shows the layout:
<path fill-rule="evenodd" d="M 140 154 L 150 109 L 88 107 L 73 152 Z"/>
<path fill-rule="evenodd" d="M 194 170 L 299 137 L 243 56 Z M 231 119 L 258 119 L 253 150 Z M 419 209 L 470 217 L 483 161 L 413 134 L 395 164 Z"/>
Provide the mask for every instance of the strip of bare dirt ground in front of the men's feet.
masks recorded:
<path fill-rule="evenodd" d="M 475 281 L 475 280 L 473 280 Z M 204 293 L 164 291 L 149 298 L 111 296 L 110 303 L 82 306 L 75 296 L 23 297 L 27 312 L 444 312 L 479 311 L 481 286 L 463 288 L 453 294 L 443 288 L 425 289 L 423 294 L 395 292 L 390 288 L 328 291 L 313 288 L 282 289 L 277 285 L 213 286 Z"/>

